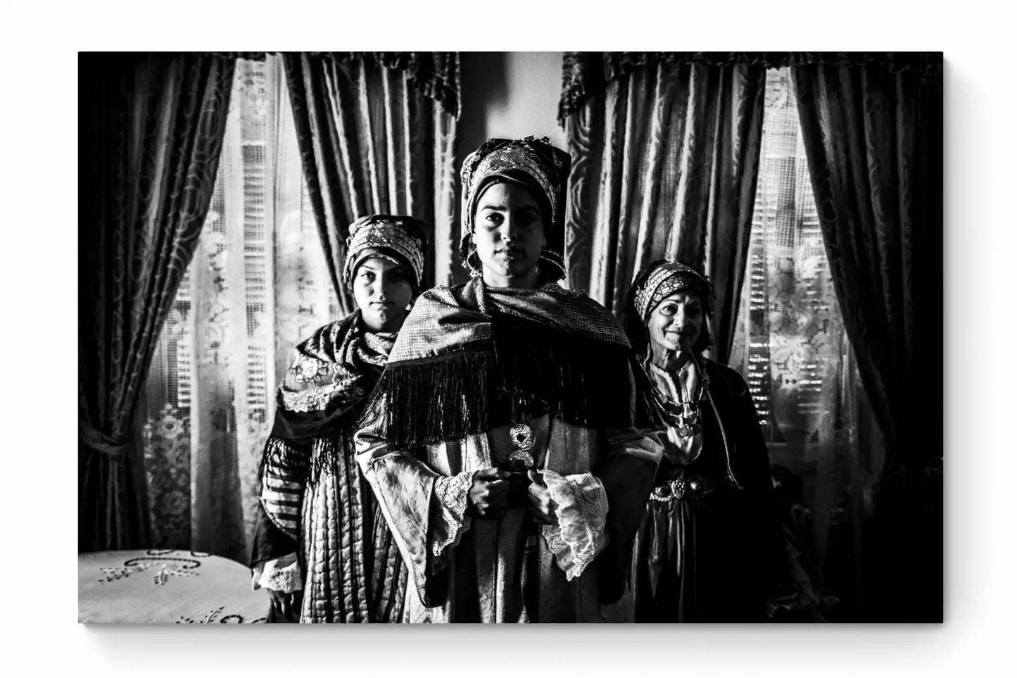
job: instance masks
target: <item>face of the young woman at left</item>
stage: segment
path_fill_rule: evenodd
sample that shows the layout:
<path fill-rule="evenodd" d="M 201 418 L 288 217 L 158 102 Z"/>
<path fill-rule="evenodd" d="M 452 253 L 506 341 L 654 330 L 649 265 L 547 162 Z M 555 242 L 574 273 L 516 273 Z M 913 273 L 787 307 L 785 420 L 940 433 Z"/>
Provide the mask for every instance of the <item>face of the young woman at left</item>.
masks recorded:
<path fill-rule="evenodd" d="M 413 299 L 412 276 L 384 257 L 368 257 L 353 276 L 353 296 L 364 324 L 374 332 L 399 332 Z"/>

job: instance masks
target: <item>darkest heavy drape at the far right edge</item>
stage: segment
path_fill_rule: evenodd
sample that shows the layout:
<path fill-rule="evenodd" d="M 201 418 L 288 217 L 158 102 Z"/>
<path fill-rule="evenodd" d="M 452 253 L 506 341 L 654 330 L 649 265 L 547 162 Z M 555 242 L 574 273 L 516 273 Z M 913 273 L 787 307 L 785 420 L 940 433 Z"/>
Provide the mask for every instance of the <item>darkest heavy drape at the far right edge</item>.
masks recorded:
<path fill-rule="evenodd" d="M 942 619 L 942 54 L 791 73 L 834 287 L 886 443 L 877 614 Z"/>

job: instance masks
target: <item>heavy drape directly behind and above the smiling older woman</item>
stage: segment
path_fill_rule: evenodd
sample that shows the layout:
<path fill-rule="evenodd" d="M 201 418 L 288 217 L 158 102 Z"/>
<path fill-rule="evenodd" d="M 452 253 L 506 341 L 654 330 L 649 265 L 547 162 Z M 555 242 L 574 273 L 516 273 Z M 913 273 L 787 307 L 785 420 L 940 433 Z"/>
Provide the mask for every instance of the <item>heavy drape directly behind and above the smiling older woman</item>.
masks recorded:
<path fill-rule="evenodd" d="M 570 287 L 620 313 L 650 262 L 705 270 L 716 294 L 714 355 L 725 362 L 749 251 L 766 67 L 566 53 L 563 79 Z"/>

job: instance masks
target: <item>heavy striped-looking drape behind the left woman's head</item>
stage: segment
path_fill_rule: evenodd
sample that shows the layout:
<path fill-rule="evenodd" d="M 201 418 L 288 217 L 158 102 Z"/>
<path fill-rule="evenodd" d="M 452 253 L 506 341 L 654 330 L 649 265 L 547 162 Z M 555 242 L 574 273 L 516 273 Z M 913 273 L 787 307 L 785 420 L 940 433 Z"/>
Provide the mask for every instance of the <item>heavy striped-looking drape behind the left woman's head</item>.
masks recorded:
<path fill-rule="evenodd" d="M 307 189 L 333 284 L 349 225 L 368 214 L 413 215 L 433 226 L 424 288 L 452 284 L 459 55 L 284 54 Z"/>

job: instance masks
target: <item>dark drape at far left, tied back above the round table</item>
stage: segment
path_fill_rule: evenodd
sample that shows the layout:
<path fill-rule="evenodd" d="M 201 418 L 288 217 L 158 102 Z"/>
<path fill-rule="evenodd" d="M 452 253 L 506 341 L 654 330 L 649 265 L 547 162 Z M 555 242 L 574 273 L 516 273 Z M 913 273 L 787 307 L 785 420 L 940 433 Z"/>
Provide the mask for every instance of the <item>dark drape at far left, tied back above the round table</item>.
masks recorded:
<path fill-rule="evenodd" d="M 208 210 L 234 64 L 79 58 L 79 551 L 148 546 L 135 411 Z"/>

